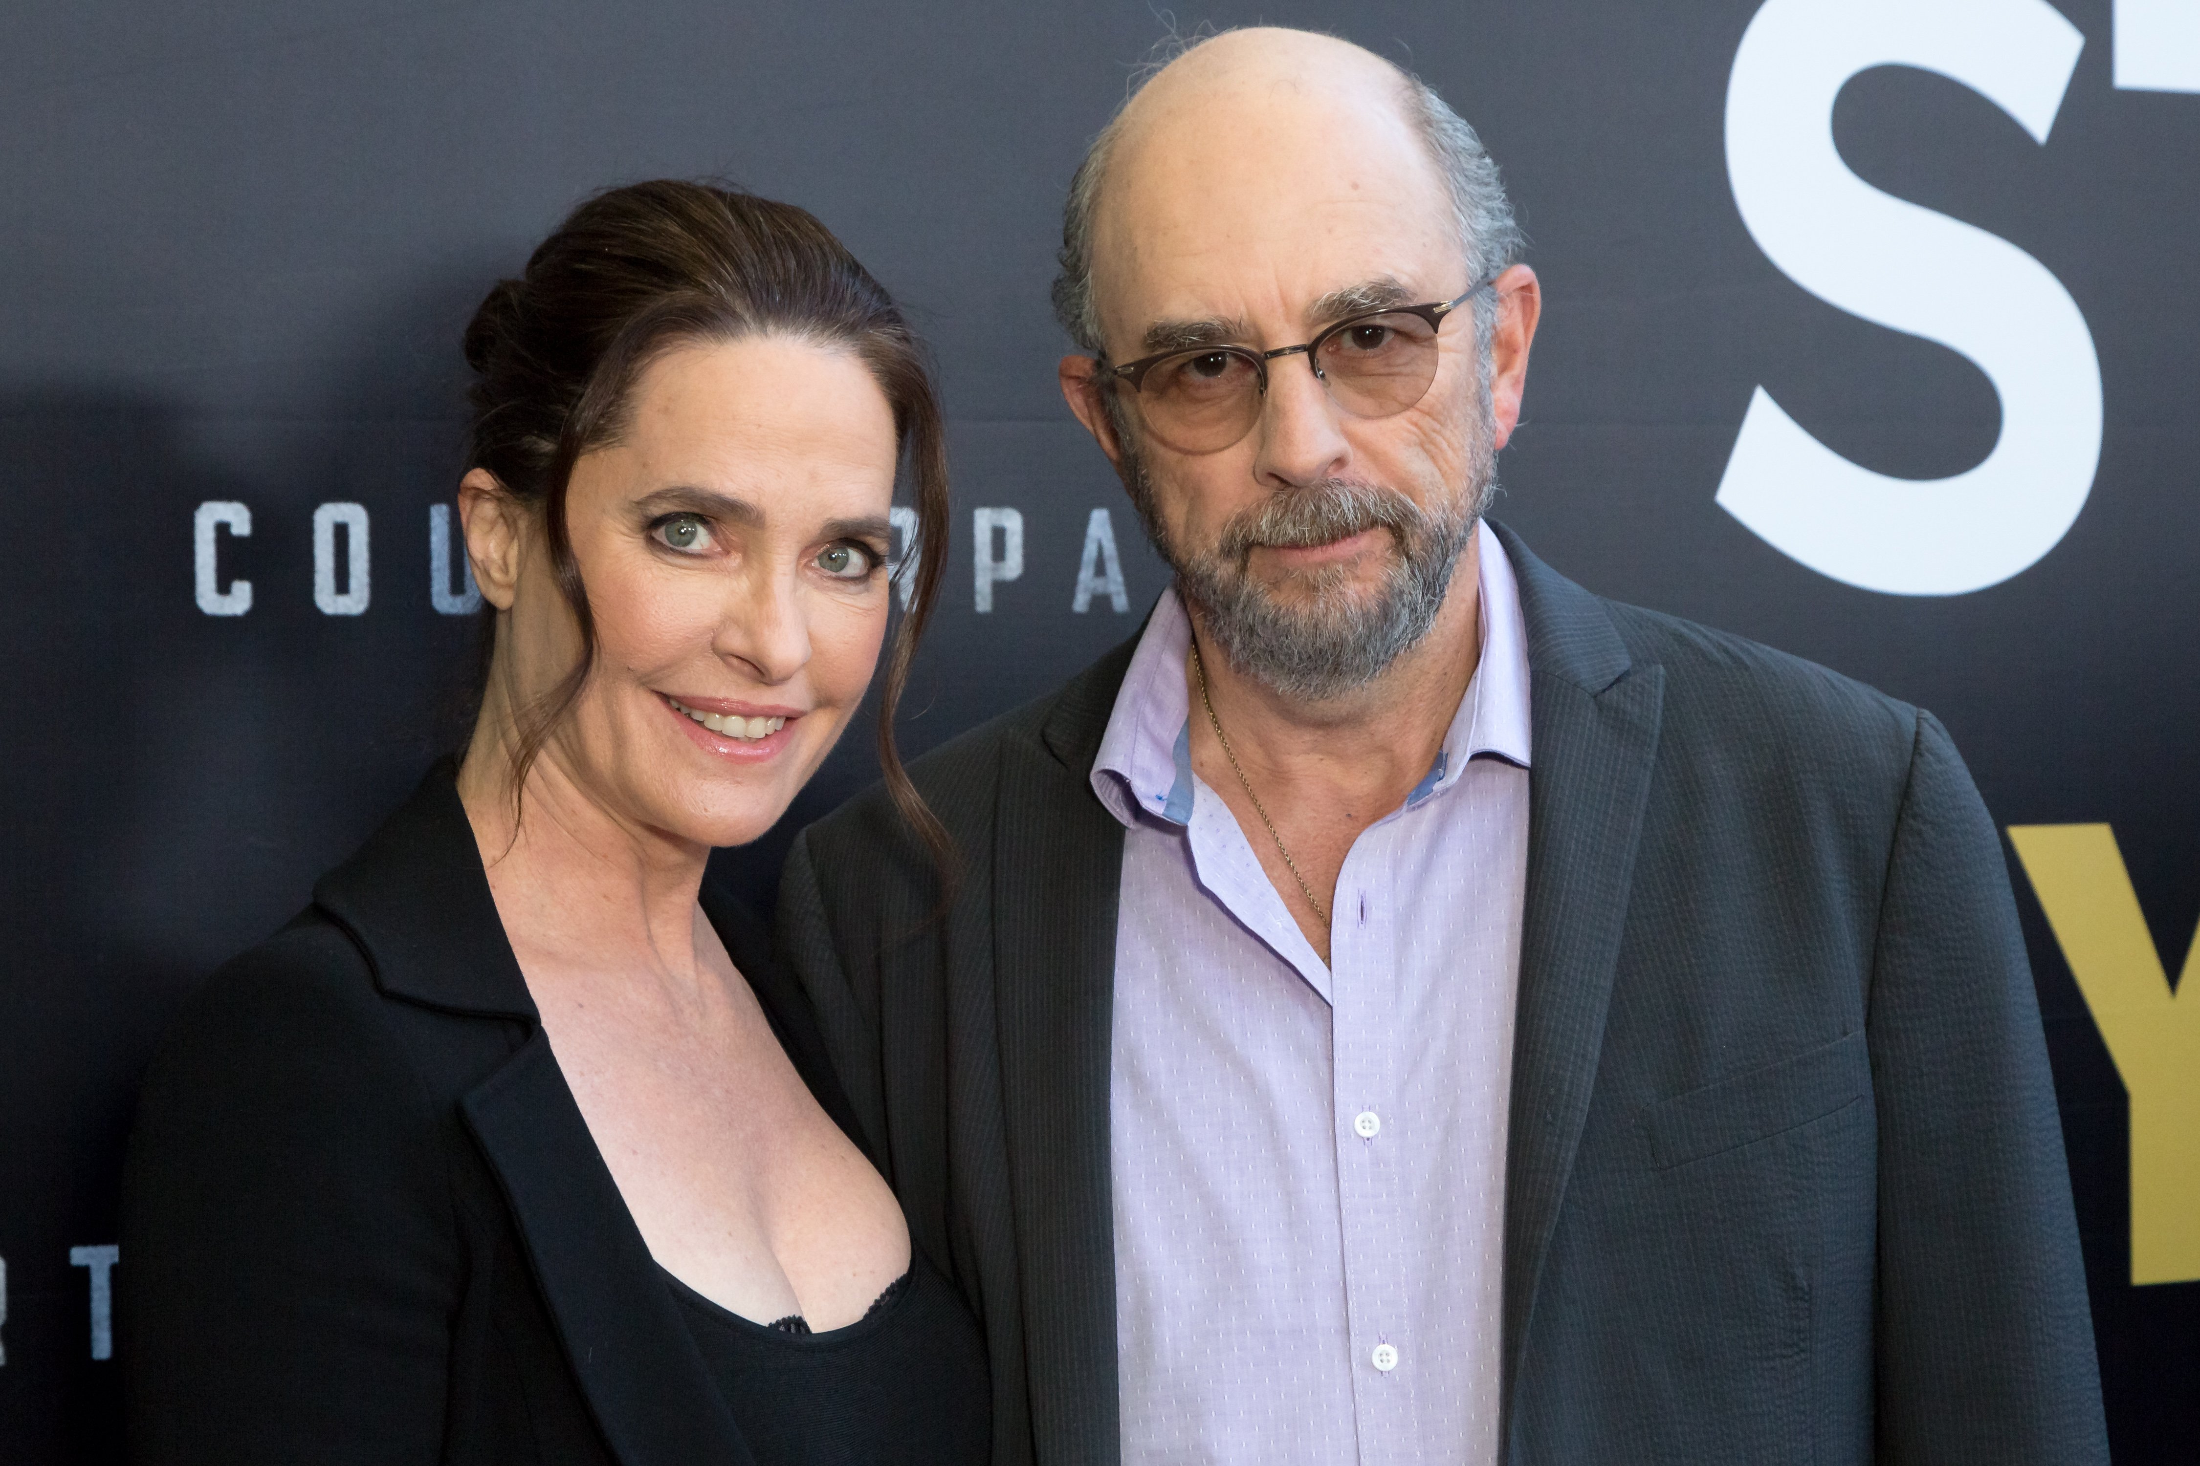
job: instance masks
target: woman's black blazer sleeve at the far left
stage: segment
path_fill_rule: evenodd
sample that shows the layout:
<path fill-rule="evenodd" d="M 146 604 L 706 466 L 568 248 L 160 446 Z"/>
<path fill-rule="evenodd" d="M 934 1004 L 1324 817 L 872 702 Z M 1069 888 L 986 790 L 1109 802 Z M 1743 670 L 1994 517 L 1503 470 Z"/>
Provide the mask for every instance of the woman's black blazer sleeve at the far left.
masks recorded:
<path fill-rule="evenodd" d="M 132 1459 L 442 1455 L 458 1233 L 389 1007 L 348 939 L 301 923 L 161 1044 L 117 1268 Z"/>

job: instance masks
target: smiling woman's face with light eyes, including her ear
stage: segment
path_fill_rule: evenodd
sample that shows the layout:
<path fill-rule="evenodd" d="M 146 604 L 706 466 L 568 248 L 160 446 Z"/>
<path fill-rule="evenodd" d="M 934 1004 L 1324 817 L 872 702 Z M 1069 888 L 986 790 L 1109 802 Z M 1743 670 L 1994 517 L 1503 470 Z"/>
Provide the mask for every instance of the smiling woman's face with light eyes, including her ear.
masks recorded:
<path fill-rule="evenodd" d="M 856 356 L 752 336 L 658 358 L 627 415 L 565 499 L 596 666 L 543 760 L 625 824 L 746 844 L 816 774 L 878 664 L 893 411 Z M 539 532 L 508 631 L 526 706 L 581 651 Z"/>

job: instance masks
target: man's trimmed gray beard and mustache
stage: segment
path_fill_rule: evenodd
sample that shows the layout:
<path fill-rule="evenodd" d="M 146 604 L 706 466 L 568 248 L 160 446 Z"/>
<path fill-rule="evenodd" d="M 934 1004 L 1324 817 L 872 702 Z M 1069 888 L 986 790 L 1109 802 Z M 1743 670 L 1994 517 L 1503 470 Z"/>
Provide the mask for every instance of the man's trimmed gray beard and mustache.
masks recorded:
<path fill-rule="evenodd" d="M 1494 426 L 1494 424 L 1492 424 Z M 1452 503 L 1423 510 L 1395 488 L 1324 479 L 1274 495 L 1223 525 L 1212 547 L 1177 545 L 1153 510 L 1144 459 L 1124 442 L 1124 488 L 1146 536 L 1177 571 L 1177 593 L 1241 675 L 1269 690 L 1331 701 L 1375 681 L 1421 644 L 1443 609 L 1452 569 L 1496 495 L 1489 433 L 1476 435 L 1467 486 Z M 1393 558 L 1373 591 L 1342 591 L 1342 567 L 1294 576 L 1278 600 L 1247 569 L 1254 547 L 1311 547 L 1388 530 Z"/>

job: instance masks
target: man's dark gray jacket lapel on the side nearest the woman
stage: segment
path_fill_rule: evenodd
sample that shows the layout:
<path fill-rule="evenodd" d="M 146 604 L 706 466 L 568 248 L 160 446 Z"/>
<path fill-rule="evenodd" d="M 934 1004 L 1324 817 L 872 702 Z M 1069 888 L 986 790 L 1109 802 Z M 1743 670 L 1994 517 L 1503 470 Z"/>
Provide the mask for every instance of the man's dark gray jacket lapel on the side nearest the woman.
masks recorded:
<path fill-rule="evenodd" d="M 1063 690 L 1041 743 L 1010 745 L 994 826 L 994 1002 L 1008 1171 L 1045 1466 L 1118 1457 L 1109 1057 L 1122 824 L 1091 763 L 1129 646 Z"/>

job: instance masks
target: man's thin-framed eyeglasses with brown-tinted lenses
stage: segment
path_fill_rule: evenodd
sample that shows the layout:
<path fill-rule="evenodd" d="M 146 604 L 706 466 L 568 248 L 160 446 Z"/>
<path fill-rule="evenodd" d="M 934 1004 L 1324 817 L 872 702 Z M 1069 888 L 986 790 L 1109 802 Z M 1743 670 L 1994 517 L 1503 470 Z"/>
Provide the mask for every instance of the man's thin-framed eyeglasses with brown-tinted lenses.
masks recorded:
<path fill-rule="evenodd" d="M 1386 306 L 1344 316 L 1302 345 L 1256 352 L 1243 345 L 1203 345 L 1140 356 L 1120 367 L 1100 360 L 1102 374 L 1137 393 L 1146 431 L 1177 453 L 1221 453 L 1261 420 L 1267 363 L 1307 356 L 1313 376 L 1338 407 L 1355 418 L 1401 413 L 1437 380 L 1437 330 L 1445 316 L 1496 279 L 1467 286 L 1456 299 L 1432 306 Z"/>

